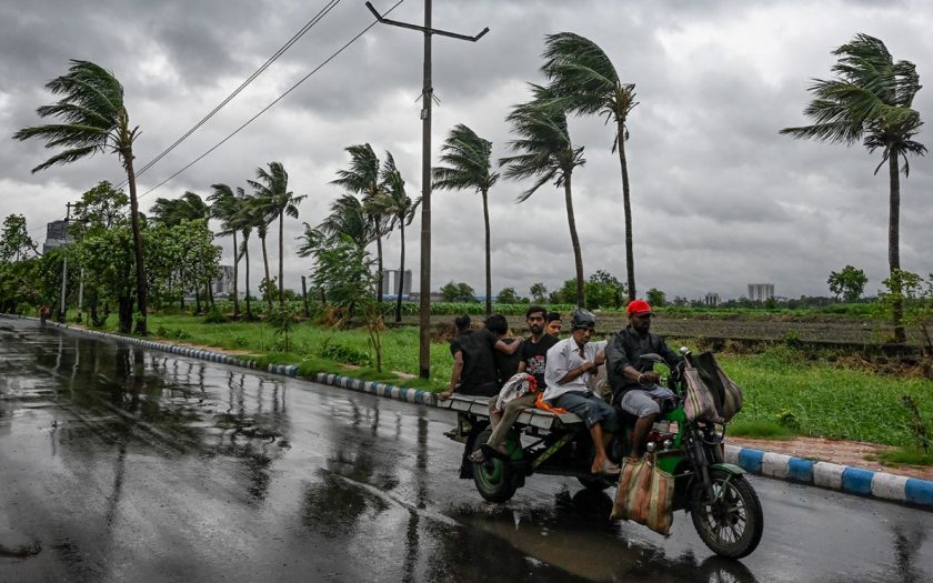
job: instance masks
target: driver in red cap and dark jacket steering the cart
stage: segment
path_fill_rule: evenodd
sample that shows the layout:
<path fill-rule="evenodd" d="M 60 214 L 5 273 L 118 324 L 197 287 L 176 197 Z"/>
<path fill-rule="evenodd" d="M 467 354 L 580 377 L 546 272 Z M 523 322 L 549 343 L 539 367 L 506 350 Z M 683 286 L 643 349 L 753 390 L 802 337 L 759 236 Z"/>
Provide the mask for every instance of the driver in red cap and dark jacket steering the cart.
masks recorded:
<path fill-rule="evenodd" d="M 653 371 L 651 361 L 642 354 L 659 354 L 673 369 L 682 359 L 668 348 L 664 339 L 651 333 L 654 312 L 644 300 L 633 300 L 625 309 L 629 325 L 612 334 L 605 346 L 606 375 L 614 393 L 614 401 L 639 420 L 632 430 L 632 456 L 640 458 L 642 442 L 661 413 L 659 401 L 671 399 L 674 393 L 658 383 L 661 378 Z"/>

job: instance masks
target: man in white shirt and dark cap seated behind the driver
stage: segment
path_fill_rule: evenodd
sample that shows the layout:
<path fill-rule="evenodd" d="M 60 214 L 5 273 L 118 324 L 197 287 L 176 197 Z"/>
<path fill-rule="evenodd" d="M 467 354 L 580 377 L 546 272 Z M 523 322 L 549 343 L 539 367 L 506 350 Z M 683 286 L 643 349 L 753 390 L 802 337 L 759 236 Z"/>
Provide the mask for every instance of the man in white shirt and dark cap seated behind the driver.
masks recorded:
<path fill-rule="evenodd" d="M 605 448 L 620 430 L 619 414 L 591 390 L 592 375 L 605 360 L 605 343 L 590 342 L 596 318 L 583 309 L 571 316 L 571 335 L 548 351 L 544 369 L 546 389 L 542 399 L 551 406 L 575 413 L 586 423 L 593 438 L 595 455 L 590 471 L 594 474 L 618 474 L 619 466 L 605 454 Z"/>

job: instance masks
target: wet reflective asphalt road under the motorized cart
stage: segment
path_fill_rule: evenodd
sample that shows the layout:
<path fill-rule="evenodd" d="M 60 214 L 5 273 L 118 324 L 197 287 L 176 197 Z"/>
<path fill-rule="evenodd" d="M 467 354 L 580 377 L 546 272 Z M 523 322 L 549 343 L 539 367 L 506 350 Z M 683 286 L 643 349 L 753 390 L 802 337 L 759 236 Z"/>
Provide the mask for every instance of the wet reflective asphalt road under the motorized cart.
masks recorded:
<path fill-rule="evenodd" d="M 783 482 L 741 563 L 575 481 L 486 504 L 452 420 L 0 319 L 0 581 L 933 580 L 933 513 Z"/>

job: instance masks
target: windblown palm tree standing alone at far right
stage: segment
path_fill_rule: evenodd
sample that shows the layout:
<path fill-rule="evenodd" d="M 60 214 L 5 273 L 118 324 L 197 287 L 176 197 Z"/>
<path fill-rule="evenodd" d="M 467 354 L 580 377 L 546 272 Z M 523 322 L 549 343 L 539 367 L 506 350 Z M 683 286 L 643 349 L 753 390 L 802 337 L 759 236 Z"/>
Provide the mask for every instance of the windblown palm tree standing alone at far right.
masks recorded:
<path fill-rule="evenodd" d="M 846 145 L 861 141 L 869 152 L 881 150 L 875 174 L 887 162 L 887 262 L 895 298 L 894 339 L 904 342 L 900 282 L 900 160 L 904 160 L 906 177 L 911 168 L 907 154 L 926 153 L 926 147 L 913 140 L 923 124 L 920 113 L 911 107 L 921 88 L 920 76 L 914 63 L 894 62 L 884 43 L 867 34 L 856 34 L 833 54 L 840 57 L 832 67 L 835 79 L 815 80 L 810 87 L 814 99 L 803 110 L 814 121 L 813 125 L 784 128 L 781 133 Z"/>

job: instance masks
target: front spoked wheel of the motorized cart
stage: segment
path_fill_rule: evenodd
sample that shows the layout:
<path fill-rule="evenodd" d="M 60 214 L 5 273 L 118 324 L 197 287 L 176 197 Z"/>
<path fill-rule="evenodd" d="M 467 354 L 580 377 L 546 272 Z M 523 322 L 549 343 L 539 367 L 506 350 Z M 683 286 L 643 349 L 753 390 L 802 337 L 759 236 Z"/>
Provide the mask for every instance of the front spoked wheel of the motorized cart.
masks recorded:
<path fill-rule="evenodd" d="M 710 503 L 699 479 L 691 492 L 691 517 L 696 533 L 718 555 L 741 559 L 751 554 L 764 530 L 758 494 L 743 475 L 711 469 L 710 480 L 718 501 Z"/>

